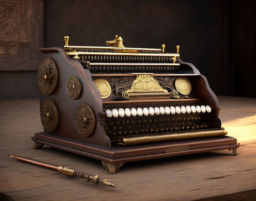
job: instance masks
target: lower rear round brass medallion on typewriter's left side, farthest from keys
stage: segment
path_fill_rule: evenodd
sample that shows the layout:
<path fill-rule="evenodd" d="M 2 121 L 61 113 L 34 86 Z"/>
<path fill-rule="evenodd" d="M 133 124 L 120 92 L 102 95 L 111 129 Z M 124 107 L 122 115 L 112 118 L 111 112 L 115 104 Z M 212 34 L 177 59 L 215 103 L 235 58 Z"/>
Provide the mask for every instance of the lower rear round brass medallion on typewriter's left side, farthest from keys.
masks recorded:
<path fill-rule="evenodd" d="M 40 109 L 41 122 L 44 129 L 53 132 L 58 124 L 58 112 L 51 100 L 45 100 Z"/>

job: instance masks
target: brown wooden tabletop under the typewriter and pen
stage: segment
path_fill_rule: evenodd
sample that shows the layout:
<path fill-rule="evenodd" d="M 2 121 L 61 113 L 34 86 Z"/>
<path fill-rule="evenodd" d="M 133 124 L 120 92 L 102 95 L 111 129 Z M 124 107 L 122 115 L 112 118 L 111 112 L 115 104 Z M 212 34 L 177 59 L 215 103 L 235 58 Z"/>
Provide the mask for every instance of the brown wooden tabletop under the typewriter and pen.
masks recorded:
<path fill-rule="evenodd" d="M 33 149 L 31 136 L 43 131 L 39 100 L 0 101 L 0 200 L 255 200 L 256 99 L 218 99 L 223 127 L 241 144 L 238 156 L 221 150 L 129 162 L 116 174 L 104 170 L 99 160 L 49 146 Z M 97 174 L 117 188 L 22 163 L 8 154 Z"/>

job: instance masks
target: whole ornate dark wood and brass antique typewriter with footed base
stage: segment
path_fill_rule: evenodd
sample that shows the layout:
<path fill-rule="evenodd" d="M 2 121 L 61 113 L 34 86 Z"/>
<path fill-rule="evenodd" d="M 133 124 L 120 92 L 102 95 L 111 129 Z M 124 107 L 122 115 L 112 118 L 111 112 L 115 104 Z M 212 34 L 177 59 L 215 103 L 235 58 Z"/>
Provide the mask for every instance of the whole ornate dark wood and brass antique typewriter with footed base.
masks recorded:
<path fill-rule="evenodd" d="M 101 160 L 110 173 L 124 162 L 229 149 L 220 107 L 206 78 L 177 53 L 107 47 L 41 48 L 38 71 L 44 132 L 35 149 L 52 146 Z"/>

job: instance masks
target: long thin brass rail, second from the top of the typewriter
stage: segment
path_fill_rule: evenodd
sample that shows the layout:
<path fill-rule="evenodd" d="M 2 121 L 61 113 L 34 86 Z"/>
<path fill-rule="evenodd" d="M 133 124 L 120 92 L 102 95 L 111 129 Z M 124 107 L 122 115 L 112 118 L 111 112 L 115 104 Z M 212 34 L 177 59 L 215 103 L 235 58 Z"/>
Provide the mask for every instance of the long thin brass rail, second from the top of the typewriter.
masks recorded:
<path fill-rule="evenodd" d="M 68 55 L 125 55 L 125 56 L 157 56 L 157 57 L 179 57 L 179 54 L 147 54 L 147 53 L 115 53 L 115 52 L 67 52 Z"/>

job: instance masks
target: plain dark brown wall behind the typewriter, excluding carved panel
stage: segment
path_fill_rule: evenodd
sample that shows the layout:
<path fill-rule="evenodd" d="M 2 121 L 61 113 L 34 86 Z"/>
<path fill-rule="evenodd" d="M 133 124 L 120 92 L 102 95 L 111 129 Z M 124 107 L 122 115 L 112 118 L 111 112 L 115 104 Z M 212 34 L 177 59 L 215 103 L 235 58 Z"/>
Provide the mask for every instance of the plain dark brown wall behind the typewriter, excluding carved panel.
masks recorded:
<path fill-rule="evenodd" d="M 68 35 L 69 45 L 106 46 L 117 34 L 125 47 L 165 44 L 166 52 L 175 52 L 180 45 L 181 60 L 195 65 L 216 95 L 256 97 L 255 8 L 255 1 L 46 0 L 42 41 L 63 47 Z M 21 74 L 1 72 L 1 99 L 38 96 L 39 89 L 28 87 L 37 84 L 35 71 L 19 81 L 20 90 L 11 90 L 15 81 L 3 87 L 6 75 L 19 80 Z"/>

